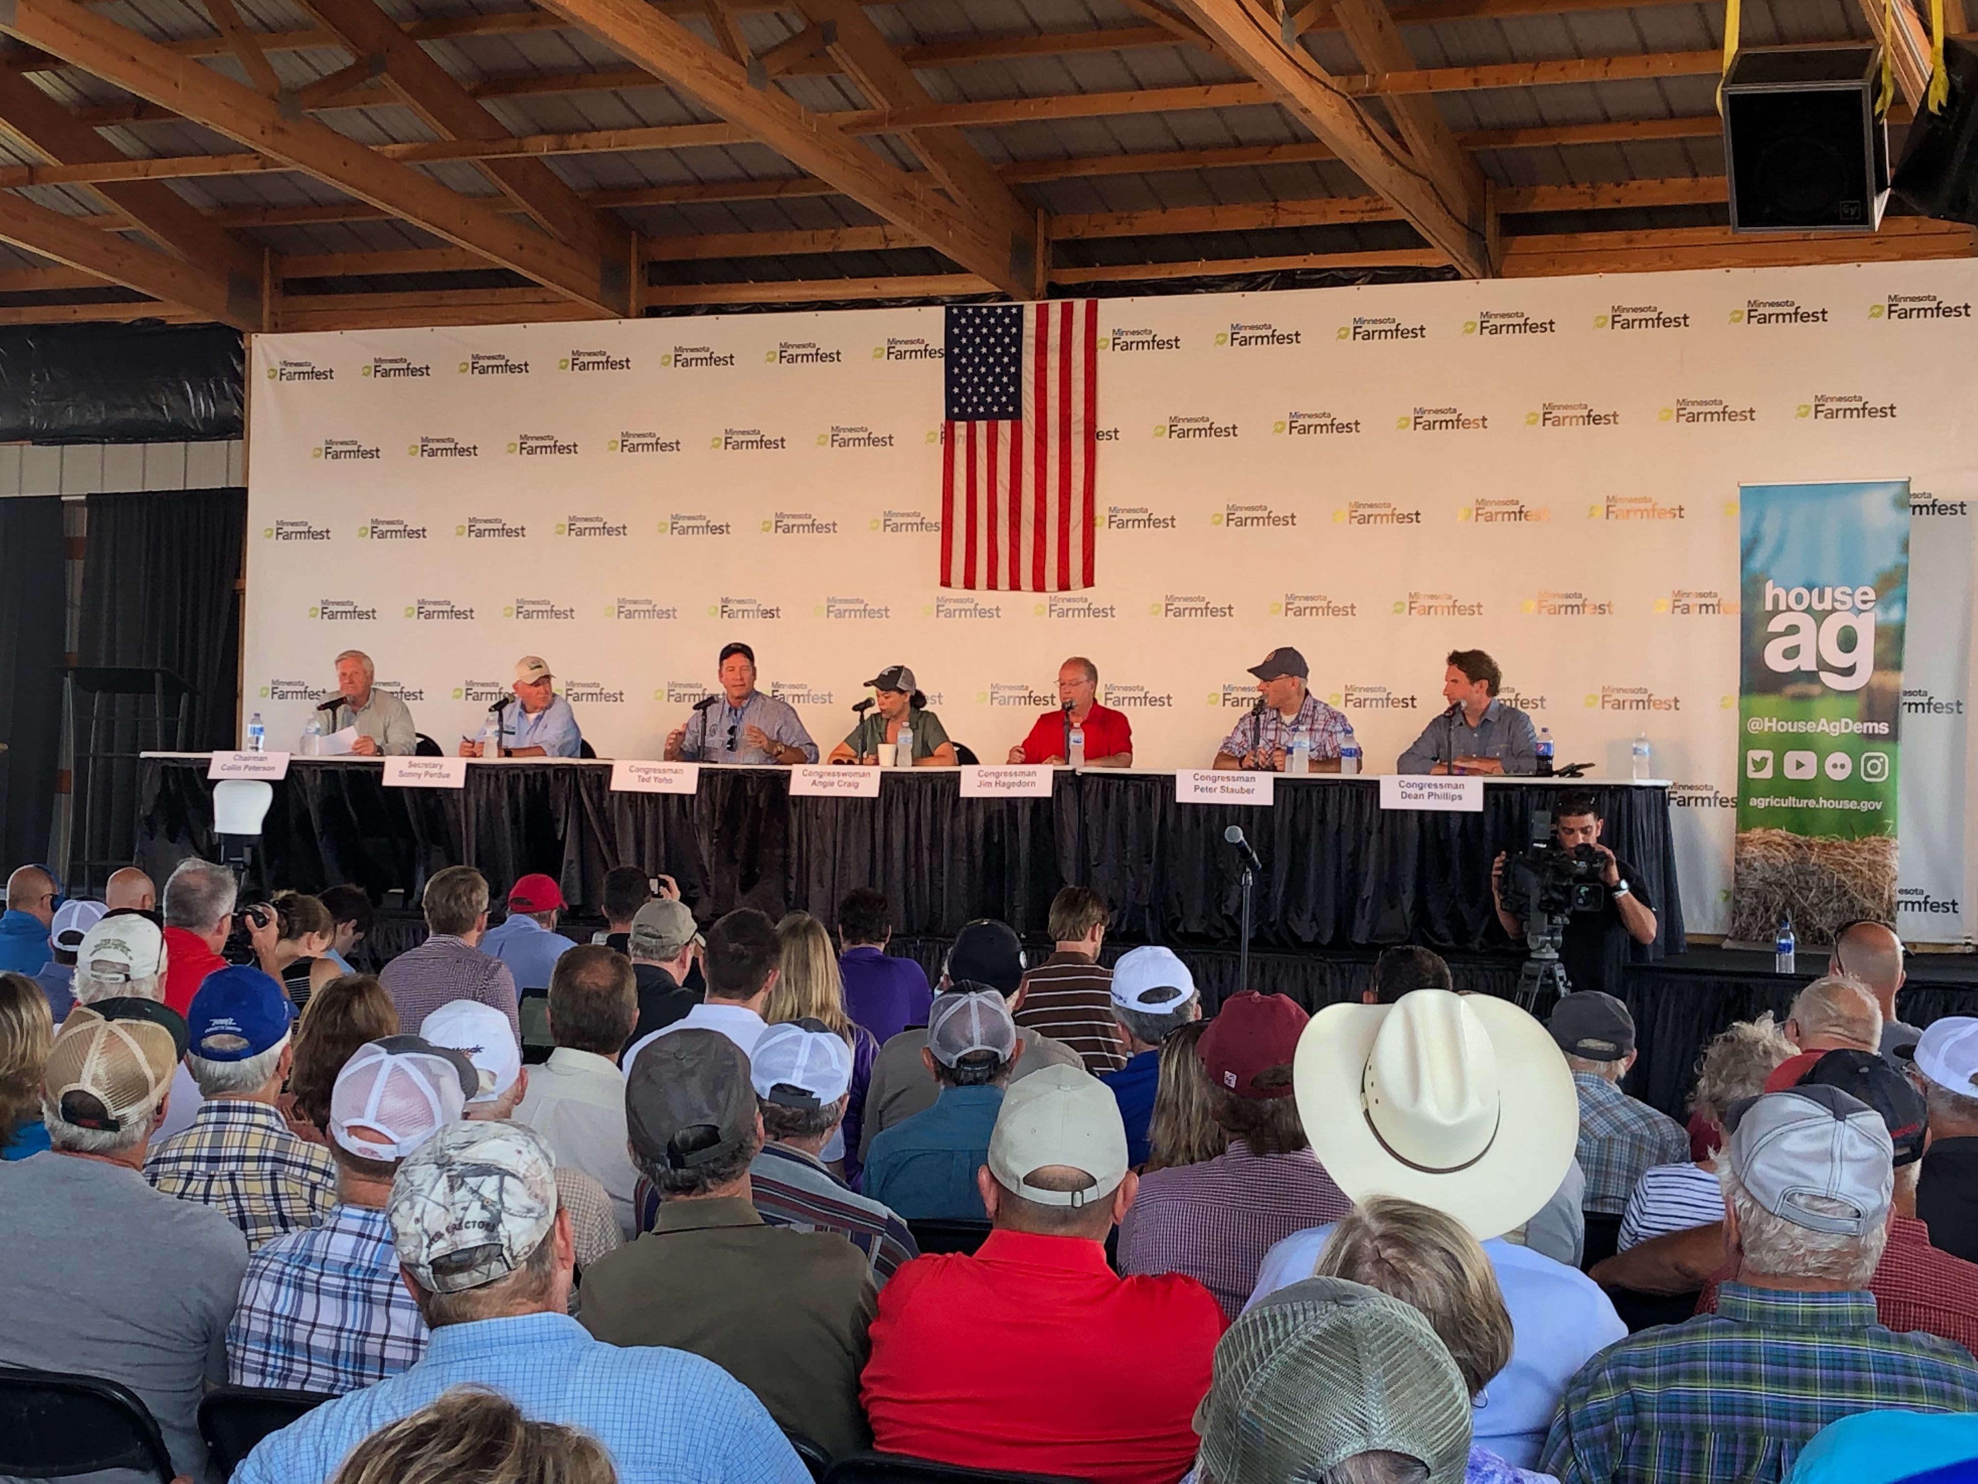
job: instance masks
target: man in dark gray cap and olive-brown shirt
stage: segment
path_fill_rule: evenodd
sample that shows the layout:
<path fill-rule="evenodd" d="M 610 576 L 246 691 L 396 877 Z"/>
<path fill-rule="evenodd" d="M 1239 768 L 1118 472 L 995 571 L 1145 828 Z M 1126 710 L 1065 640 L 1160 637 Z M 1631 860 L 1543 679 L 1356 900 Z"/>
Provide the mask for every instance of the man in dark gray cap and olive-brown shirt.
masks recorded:
<path fill-rule="evenodd" d="M 872 1272 L 835 1233 L 769 1227 L 750 1203 L 762 1148 L 750 1059 L 718 1031 L 665 1035 L 633 1063 L 625 1116 L 659 1217 L 584 1274 L 584 1328 L 702 1355 L 825 1452 L 864 1448 Z"/>

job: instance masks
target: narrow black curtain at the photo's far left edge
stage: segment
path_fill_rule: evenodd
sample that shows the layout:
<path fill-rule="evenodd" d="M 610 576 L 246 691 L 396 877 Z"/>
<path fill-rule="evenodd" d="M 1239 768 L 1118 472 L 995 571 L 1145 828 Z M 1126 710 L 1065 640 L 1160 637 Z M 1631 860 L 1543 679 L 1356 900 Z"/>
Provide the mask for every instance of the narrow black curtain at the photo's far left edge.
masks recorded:
<path fill-rule="evenodd" d="M 0 501 L 0 875 L 47 859 L 61 762 L 61 501 Z"/>

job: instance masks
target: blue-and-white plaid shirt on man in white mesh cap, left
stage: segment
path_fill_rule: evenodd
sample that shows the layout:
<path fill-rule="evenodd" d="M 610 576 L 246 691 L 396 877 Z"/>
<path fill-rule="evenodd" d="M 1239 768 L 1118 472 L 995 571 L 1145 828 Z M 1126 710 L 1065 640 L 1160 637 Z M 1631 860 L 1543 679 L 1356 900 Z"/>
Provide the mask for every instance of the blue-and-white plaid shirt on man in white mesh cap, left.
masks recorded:
<path fill-rule="evenodd" d="M 227 1381 L 342 1395 L 425 1353 L 384 1211 L 340 1205 L 247 1258 L 227 1326 Z"/>

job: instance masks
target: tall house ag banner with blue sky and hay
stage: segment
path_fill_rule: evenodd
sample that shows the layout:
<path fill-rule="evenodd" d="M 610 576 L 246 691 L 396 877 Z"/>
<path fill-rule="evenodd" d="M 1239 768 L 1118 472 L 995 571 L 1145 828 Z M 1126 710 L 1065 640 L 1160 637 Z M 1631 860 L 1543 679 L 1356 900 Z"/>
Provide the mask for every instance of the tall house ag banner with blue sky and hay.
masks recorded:
<path fill-rule="evenodd" d="M 1741 485 L 1731 936 L 1895 920 L 1909 481 Z"/>

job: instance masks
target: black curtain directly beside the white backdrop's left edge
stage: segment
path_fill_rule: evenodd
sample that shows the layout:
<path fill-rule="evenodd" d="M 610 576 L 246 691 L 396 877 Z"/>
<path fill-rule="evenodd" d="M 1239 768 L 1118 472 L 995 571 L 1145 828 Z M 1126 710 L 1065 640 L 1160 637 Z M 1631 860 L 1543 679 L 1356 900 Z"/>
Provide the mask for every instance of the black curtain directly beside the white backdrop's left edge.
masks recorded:
<path fill-rule="evenodd" d="M 245 489 L 89 497 L 81 663 L 162 667 L 184 679 L 192 687 L 186 696 L 190 752 L 235 746 L 245 536 Z M 133 857 L 135 754 L 156 746 L 140 732 L 133 698 L 117 704 L 117 724 L 103 744 L 127 756 L 97 764 L 87 782 L 93 797 L 75 799 L 73 859 L 85 863 Z M 79 766 L 79 788 L 81 772 Z"/>

